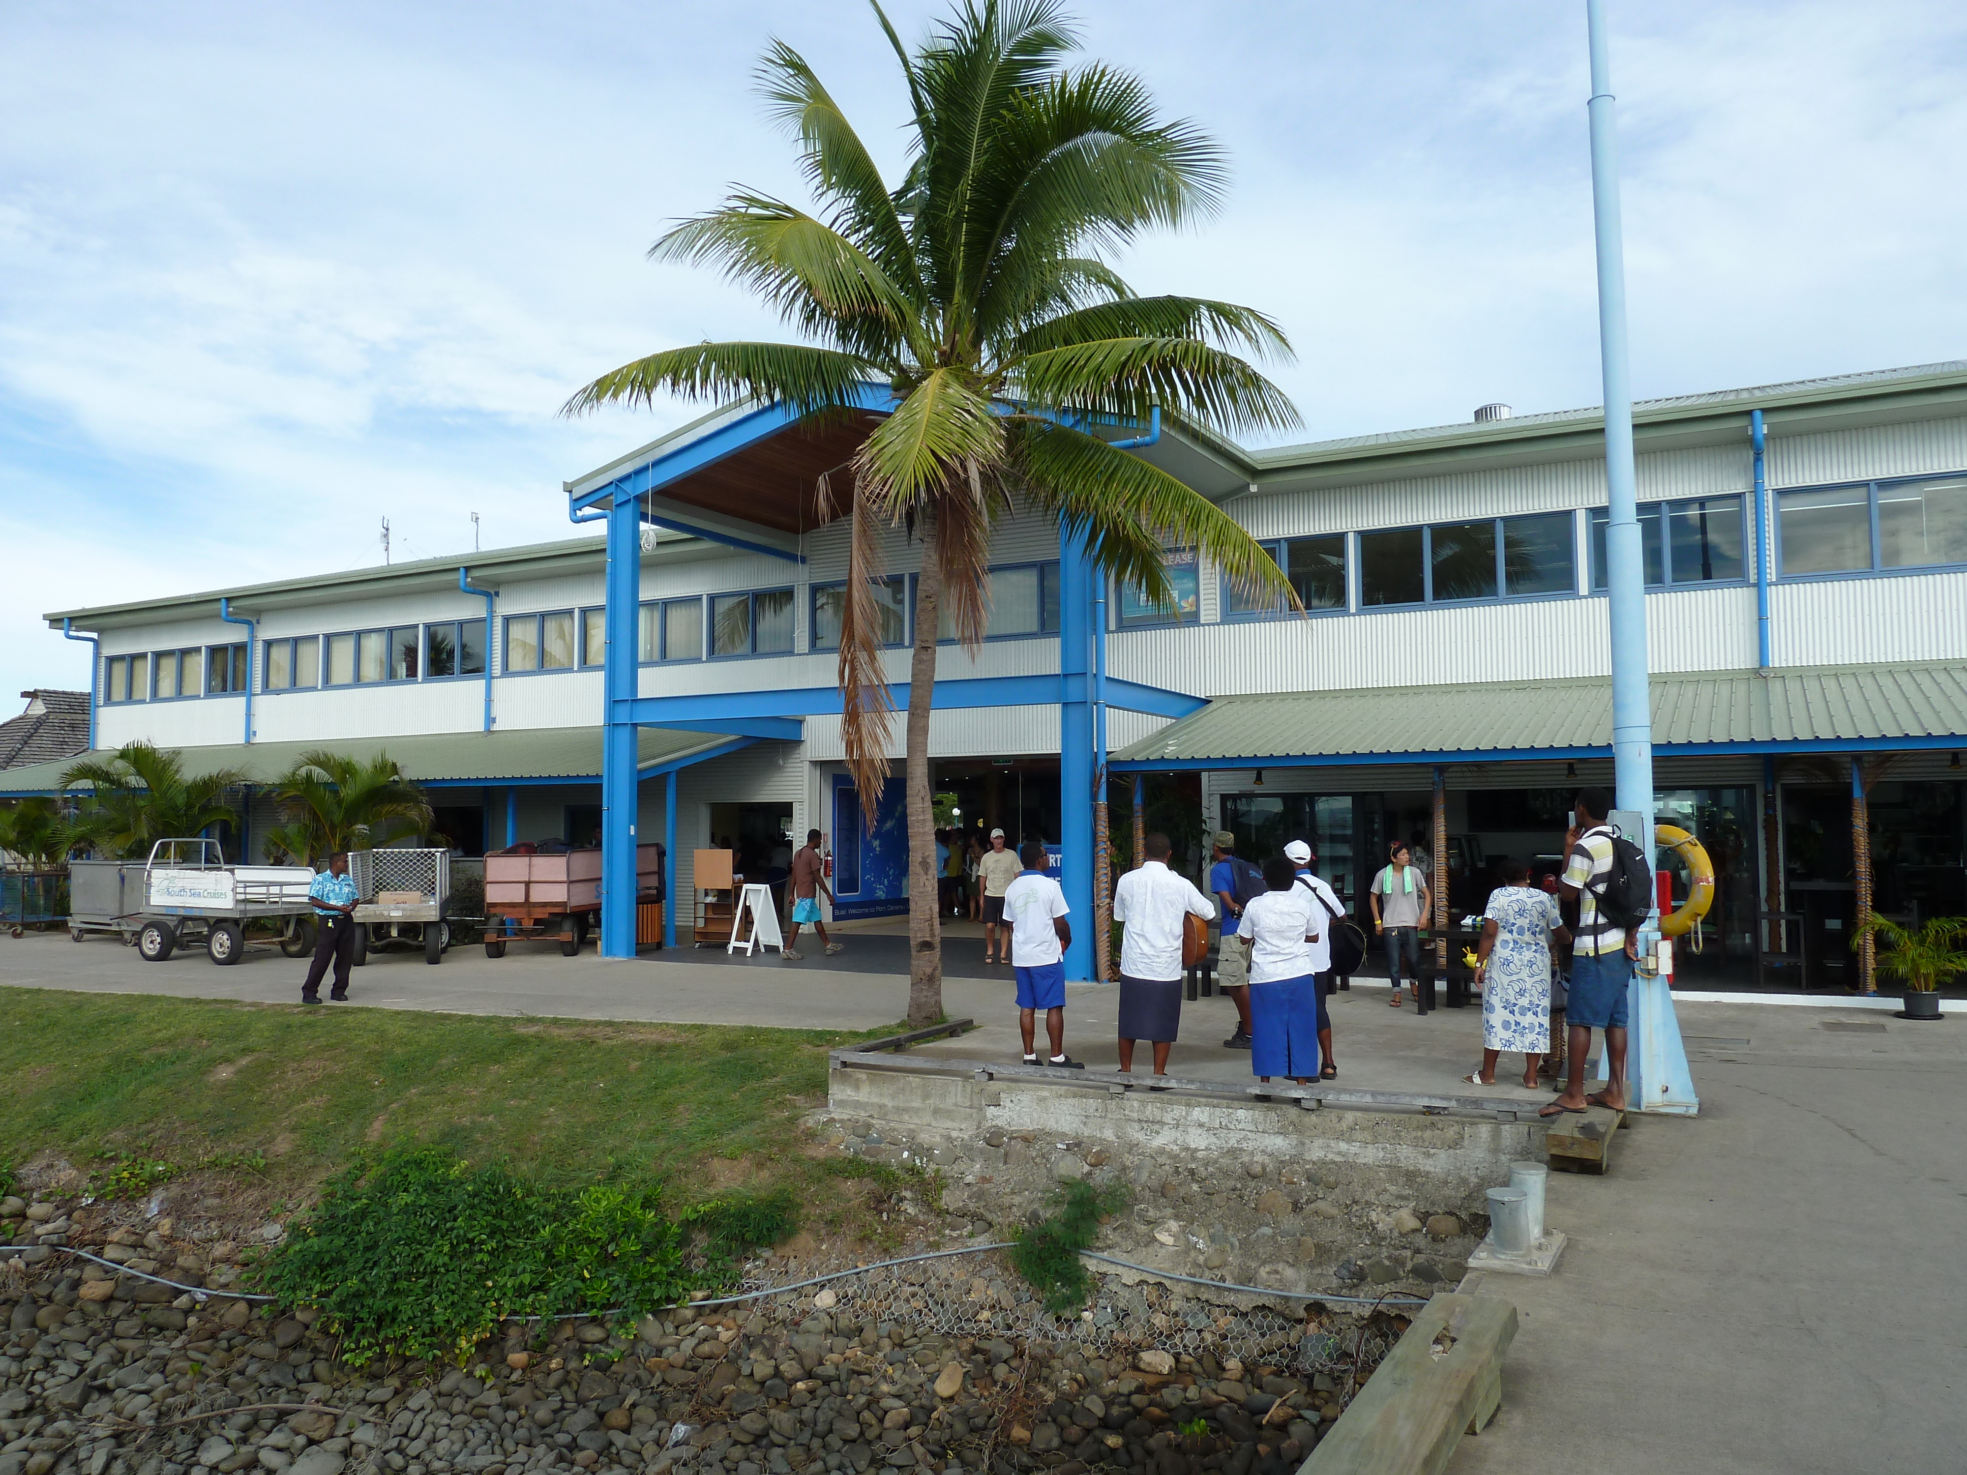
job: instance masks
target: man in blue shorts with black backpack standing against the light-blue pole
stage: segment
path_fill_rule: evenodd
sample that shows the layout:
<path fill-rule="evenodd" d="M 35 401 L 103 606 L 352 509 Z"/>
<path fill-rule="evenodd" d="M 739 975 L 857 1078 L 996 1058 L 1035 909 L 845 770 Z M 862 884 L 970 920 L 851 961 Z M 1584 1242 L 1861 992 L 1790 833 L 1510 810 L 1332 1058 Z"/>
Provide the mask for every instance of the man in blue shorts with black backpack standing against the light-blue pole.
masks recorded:
<path fill-rule="evenodd" d="M 1593 1105 L 1625 1111 L 1627 989 L 1639 958 L 1639 924 L 1646 918 L 1650 873 L 1646 857 L 1607 824 L 1613 798 L 1603 789 L 1578 795 L 1574 824 L 1564 836 L 1568 857 L 1558 891 L 1578 897 L 1578 936 L 1572 946 L 1570 1072 L 1564 1092 L 1536 1115 L 1556 1117 Z M 1585 1095 L 1585 1056 L 1591 1031 L 1605 1031 L 1603 1092 Z"/>

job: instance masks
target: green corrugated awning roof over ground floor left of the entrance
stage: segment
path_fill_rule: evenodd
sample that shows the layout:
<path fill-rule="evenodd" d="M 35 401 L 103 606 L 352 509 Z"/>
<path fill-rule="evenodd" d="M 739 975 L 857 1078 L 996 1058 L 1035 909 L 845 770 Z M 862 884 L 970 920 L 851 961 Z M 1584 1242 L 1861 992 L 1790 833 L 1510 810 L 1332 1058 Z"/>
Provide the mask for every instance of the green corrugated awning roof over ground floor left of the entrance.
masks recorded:
<path fill-rule="evenodd" d="M 637 763 L 673 763 L 732 741 L 716 732 L 643 728 Z M 214 743 L 181 747 L 185 773 L 199 777 L 240 769 L 248 783 L 271 783 L 315 749 L 374 757 L 387 753 L 417 783 L 506 783 L 511 779 L 594 781 L 602 771 L 600 728 L 509 728 L 506 732 L 431 732 L 407 738 L 327 738 L 307 743 Z M 110 757 L 89 753 L 87 757 Z M 0 795 L 53 793 L 83 755 L 0 773 Z"/>

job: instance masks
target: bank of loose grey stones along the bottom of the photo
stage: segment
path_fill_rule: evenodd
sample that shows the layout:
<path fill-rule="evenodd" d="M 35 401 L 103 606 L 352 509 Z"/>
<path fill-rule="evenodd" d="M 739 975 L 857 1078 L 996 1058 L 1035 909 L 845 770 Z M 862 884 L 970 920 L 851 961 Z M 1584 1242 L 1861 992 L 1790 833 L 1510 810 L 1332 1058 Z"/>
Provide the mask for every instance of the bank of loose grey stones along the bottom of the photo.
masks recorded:
<path fill-rule="evenodd" d="M 464 1367 L 352 1369 L 311 1312 L 228 1294 L 234 1243 L 173 1241 L 169 1219 L 77 1235 L 61 1204 L 4 1210 L 0 1475 L 1277 1475 L 1341 1406 L 1334 1375 L 1288 1375 L 1294 1345 L 1245 1367 L 1194 1337 L 1178 1355 L 948 1335 L 832 1290 L 631 1326 L 507 1324 Z M 63 1253 L 77 1237 L 124 1268 Z M 1147 1294 L 1198 1324 L 1200 1304 Z M 1338 1379 L 1349 1390 L 1365 1371 Z"/>

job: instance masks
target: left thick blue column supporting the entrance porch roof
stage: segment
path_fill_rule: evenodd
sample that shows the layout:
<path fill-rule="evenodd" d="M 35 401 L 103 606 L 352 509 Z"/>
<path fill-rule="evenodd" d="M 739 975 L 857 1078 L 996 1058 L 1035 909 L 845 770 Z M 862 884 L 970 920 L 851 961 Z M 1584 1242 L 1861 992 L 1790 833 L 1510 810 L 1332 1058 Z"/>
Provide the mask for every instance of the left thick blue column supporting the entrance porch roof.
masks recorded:
<path fill-rule="evenodd" d="M 635 956 L 637 745 L 629 716 L 637 677 L 641 498 L 616 496 L 608 513 L 608 655 L 602 718 L 602 956 Z"/>

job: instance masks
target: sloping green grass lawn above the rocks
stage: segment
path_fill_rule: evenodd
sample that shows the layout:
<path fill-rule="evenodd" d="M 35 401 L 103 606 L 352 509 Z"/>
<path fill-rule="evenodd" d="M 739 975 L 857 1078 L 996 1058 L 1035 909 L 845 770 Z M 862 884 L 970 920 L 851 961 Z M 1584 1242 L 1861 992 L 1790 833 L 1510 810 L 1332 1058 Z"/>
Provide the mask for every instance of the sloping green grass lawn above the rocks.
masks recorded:
<path fill-rule="evenodd" d="M 856 1038 L 0 989 L 0 1164 L 264 1154 L 252 1176 L 305 1196 L 364 1147 L 433 1143 L 696 1200 L 810 1172 L 797 1117 Z"/>

